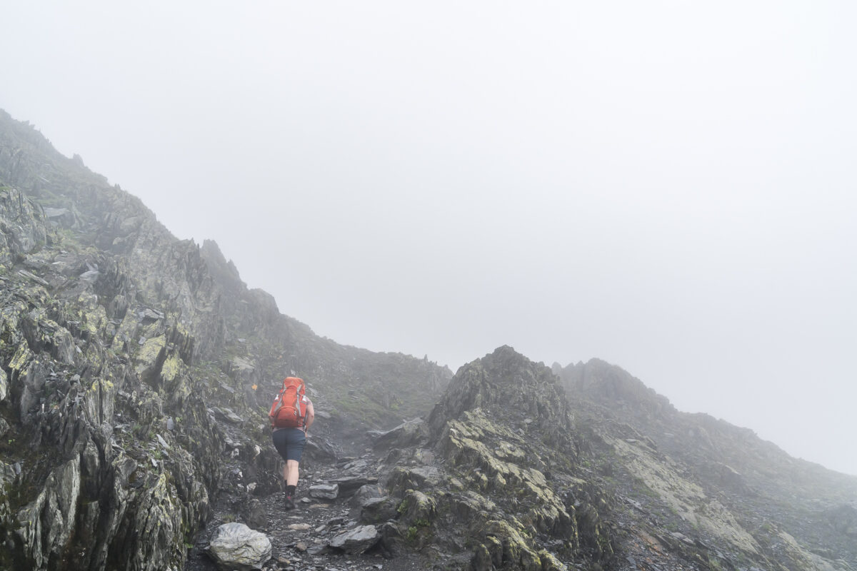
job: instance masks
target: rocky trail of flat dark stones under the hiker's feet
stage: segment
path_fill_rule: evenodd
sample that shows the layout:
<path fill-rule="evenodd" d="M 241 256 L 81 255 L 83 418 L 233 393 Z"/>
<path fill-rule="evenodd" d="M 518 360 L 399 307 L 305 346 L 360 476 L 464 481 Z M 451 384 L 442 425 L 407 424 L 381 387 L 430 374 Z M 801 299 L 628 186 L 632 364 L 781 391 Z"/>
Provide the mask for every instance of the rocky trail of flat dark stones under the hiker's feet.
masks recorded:
<path fill-rule="evenodd" d="M 219 569 L 208 547 L 218 527 L 233 521 L 265 534 L 272 556 L 261 568 L 271 571 L 416 571 L 438 563 L 420 553 L 396 552 L 383 541 L 392 529 L 366 524 L 396 515 L 379 485 L 386 475 L 384 461 L 371 449 L 360 457 L 307 463 L 297 486 L 297 508 L 291 510 L 284 508 L 282 491 L 259 497 L 243 493 L 241 464 L 227 467 L 235 491 L 224 493 L 215 506 L 213 519 L 189 550 L 186 571 Z"/>

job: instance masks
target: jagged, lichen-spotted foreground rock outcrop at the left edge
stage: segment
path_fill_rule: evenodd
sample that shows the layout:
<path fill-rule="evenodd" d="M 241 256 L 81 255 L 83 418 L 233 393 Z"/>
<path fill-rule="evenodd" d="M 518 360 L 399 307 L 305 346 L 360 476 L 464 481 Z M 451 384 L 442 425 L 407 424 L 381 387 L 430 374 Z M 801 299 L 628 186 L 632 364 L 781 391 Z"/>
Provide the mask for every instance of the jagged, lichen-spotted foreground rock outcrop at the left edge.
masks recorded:
<path fill-rule="evenodd" d="M 3 478 L 9 549 L 0 559 L 33 569 L 178 568 L 186 534 L 207 518 L 220 446 L 178 356 L 181 325 L 117 300 L 126 282 L 112 260 L 72 250 L 21 191 L 0 194 L 15 205 L 0 209 L 6 227 L 36 236 L 13 232 L 2 256 L 2 451 L 15 470 Z M 105 270 L 98 277 L 91 259 Z M 155 440 L 159 420 L 179 410 L 181 435 Z"/>

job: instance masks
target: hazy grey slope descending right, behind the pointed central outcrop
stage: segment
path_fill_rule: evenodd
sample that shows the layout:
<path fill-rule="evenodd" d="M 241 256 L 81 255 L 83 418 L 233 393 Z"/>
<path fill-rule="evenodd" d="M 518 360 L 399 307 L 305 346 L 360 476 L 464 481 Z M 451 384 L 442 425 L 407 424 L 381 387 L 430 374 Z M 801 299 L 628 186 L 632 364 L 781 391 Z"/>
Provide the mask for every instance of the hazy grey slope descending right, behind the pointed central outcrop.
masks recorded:
<path fill-rule="evenodd" d="M 709 415 L 680 413 L 620 367 L 590 360 L 553 370 L 600 441 L 596 469 L 621 472 L 622 489 L 677 530 L 770 568 L 857 568 L 849 523 L 857 478 L 795 460 Z"/>

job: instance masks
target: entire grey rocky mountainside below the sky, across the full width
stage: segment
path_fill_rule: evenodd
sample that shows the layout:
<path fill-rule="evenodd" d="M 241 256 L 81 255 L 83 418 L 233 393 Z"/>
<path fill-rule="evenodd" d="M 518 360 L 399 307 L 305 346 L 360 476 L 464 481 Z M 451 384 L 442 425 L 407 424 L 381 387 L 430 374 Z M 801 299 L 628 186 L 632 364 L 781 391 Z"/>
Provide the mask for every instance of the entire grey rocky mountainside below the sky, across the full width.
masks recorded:
<path fill-rule="evenodd" d="M 619 367 L 501 347 L 453 377 L 316 336 L 3 112 L 0 181 L 0 568 L 212 569 L 233 520 L 267 569 L 857 568 L 857 479 Z M 319 418 L 286 514 L 291 372 Z"/>

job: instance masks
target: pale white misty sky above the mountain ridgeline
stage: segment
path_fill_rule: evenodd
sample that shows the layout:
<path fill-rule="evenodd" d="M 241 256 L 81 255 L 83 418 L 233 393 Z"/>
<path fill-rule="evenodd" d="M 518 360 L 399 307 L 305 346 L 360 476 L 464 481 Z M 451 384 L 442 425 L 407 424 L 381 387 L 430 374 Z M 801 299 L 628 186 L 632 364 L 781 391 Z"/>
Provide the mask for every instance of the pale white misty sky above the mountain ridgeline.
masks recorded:
<path fill-rule="evenodd" d="M 857 5 L 3 8 L 0 107 L 338 342 L 622 366 L 857 474 Z"/>

